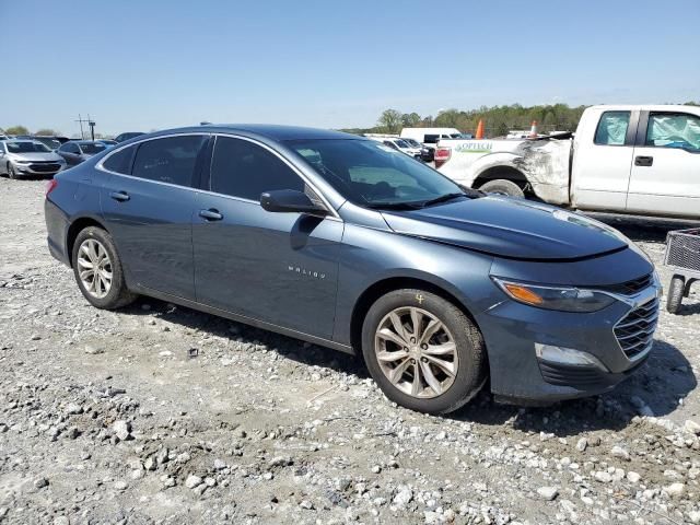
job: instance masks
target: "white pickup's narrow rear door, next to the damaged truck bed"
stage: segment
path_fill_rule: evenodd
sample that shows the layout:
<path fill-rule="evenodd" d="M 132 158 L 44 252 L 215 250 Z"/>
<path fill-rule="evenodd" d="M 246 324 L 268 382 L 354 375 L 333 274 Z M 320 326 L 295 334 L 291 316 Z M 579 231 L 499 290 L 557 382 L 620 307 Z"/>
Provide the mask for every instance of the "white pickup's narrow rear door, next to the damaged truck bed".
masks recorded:
<path fill-rule="evenodd" d="M 586 129 L 576 131 L 573 206 L 593 210 L 626 209 L 638 118 L 635 110 L 600 110 Z"/>

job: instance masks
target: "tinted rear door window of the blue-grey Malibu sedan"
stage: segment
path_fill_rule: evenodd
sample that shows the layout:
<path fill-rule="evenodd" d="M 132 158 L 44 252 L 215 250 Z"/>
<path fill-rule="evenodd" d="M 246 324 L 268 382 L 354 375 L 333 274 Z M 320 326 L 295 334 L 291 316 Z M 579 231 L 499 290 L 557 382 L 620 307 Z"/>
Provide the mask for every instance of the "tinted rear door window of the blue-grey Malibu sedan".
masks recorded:
<path fill-rule="evenodd" d="M 141 142 L 131 175 L 159 183 L 191 186 L 197 155 L 207 136 L 167 137 Z"/>

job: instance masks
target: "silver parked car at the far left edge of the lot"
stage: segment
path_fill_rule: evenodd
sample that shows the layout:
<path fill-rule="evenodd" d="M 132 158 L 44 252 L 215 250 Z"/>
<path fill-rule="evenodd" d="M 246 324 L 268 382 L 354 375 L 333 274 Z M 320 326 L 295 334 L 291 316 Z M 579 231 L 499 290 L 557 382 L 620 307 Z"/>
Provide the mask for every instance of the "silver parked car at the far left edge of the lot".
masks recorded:
<path fill-rule="evenodd" d="M 0 141 L 0 175 L 19 178 L 27 175 L 50 175 L 66 167 L 66 161 L 35 140 Z"/>

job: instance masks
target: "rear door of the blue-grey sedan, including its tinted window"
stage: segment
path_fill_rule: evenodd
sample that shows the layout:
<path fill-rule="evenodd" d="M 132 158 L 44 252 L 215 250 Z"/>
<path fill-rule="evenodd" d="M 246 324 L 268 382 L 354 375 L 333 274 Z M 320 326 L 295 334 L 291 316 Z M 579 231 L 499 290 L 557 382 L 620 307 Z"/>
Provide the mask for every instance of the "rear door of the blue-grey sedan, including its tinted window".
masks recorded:
<path fill-rule="evenodd" d="M 101 201 L 129 284 L 195 300 L 191 222 L 206 133 L 159 137 L 107 155 Z"/>

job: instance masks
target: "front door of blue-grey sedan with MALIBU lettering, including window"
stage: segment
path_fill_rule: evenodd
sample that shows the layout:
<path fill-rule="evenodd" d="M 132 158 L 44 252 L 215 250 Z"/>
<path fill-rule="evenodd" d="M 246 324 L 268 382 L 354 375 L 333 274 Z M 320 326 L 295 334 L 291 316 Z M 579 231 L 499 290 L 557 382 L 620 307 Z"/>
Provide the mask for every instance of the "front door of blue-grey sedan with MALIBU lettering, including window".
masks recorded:
<path fill-rule="evenodd" d="M 289 162 L 253 140 L 217 137 L 209 173 L 192 228 L 197 300 L 330 339 L 340 219 L 334 211 L 265 211 L 264 191 L 313 189 Z"/>

